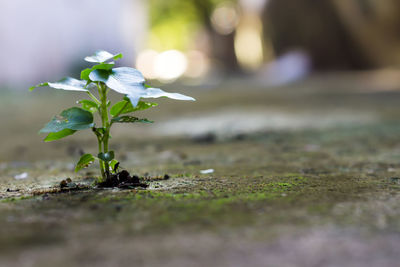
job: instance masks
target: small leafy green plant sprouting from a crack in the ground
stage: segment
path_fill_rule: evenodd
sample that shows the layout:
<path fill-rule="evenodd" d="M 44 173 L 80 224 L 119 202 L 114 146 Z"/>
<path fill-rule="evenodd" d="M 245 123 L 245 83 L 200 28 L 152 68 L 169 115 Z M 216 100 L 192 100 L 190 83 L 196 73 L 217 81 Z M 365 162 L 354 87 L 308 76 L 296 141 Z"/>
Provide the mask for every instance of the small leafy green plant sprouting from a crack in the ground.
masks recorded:
<path fill-rule="evenodd" d="M 30 88 L 49 86 L 67 91 L 85 92 L 90 99 L 82 99 L 77 103 L 81 107 L 72 107 L 55 116 L 45 125 L 40 133 L 47 133 L 45 142 L 55 141 L 70 136 L 77 131 L 91 129 L 97 138 L 97 156 L 84 154 L 76 164 L 75 171 L 88 167 L 99 161 L 101 179 L 104 182 L 110 178 L 110 172 L 116 172 L 119 162 L 115 159 L 114 151 L 109 150 L 110 130 L 116 123 L 152 123 L 148 119 L 141 119 L 128 114 L 157 106 L 156 103 L 141 101 L 143 98 L 168 97 L 177 100 L 195 99 L 178 93 L 167 93 L 159 88 L 153 88 L 145 83 L 143 75 L 134 68 L 114 68 L 115 60 L 122 58 L 122 54 L 111 54 L 107 51 L 97 51 L 85 60 L 94 65 L 81 72 L 81 80 L 66 77 L 58 82 L 41 83 Z M 111 105 L 108 93 L 114 90 L 124 97 L 121 101 Z M 94 91 L 97 91 L 97 96 Z M 94 114 L 100 117 L 101 126 L 96 125 Z"/>

